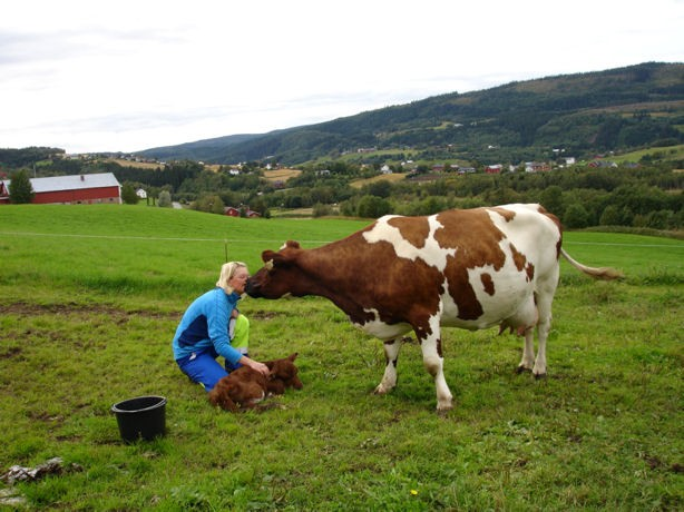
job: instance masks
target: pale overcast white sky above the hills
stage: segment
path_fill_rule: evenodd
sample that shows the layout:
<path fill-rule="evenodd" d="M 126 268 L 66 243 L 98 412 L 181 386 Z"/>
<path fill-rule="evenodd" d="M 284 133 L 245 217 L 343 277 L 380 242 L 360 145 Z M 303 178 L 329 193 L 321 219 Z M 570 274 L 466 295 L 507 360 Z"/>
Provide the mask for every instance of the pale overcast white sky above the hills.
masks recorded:
<path fill-rule="evenodd" d="M 684 0 L 21 0 L 0 148 L 135 152 L 448 92 L 684 62 Z"/>

